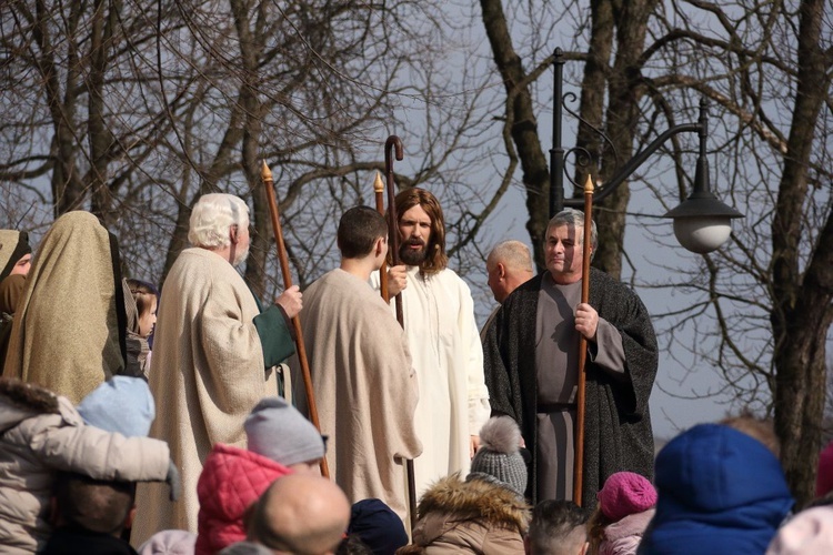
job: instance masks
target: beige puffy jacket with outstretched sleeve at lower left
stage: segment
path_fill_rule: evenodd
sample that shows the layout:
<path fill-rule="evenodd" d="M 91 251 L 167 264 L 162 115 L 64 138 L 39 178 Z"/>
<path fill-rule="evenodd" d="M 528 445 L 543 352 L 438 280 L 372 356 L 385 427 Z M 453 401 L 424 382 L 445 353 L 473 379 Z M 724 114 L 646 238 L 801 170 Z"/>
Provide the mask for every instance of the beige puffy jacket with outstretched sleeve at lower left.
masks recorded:
<path fill-rule="evenodd" d="M 96 480 L 164 481 L 169 460 L 164 442 L 87 426 L 67 397 L 0 380 L 0 552 L 44 547 L 57 471 Z"/>

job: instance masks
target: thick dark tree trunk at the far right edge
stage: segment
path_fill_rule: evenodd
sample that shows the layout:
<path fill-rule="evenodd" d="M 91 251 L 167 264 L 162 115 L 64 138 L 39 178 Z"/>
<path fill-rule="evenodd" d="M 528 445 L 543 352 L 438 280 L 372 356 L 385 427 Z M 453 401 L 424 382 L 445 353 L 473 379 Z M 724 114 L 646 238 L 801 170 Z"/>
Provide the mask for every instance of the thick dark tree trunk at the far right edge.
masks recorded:
<path fill-rule="evenodd" d="M 825 0 L 801 3 L 799 74 L 784 172 L 772 222 L 775 430 L 782 464 L 800 504 L 813 496 L 825 397 L 826 333 L 833 321 L 833 222 L 829 220 L 801 276 L 807 167 L 814 122 L 830 87 L 821 46 Z"/>

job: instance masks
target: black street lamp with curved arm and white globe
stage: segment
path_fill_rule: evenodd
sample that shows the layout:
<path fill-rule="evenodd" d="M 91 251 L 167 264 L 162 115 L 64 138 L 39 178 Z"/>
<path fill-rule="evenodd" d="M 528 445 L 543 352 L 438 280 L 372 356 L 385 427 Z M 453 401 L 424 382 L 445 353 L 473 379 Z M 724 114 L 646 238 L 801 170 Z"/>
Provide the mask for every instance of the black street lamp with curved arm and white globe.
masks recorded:
<path fill-rule="evenodd" d="M 561 112 L 563 109 L 562 78 L 564 70 L 563 51 L 555 49 L 554 68 L 554 109 L 552 114 L 553 147 L 550 150 L 550 216 L 560 212 L 564 206 L 578 208 L 583 205 L 582 199 L 564 199 L 564 161 L 568 154 L 583 149 L 574 148 L 568 151 L 561 144 Z M 642 163 L 653 154 L 671 137 L 678 133 L 696 132 L 700 137 L 700 153 L 697 167 L 694 173 L 694 190 L 689 198 L 675 209 L 669 211 L 663 218 L 674 220 L 674 235 L 685 249 L 704 254 L 719 249 L 729 239 L 732 232 L 731 220 L 743 218 L 743 214 L 723 204 L 711 192 L 709 184 L 709 161 L 705 158 L 705 141 L 709 138 L 709 119 L 706 115 L 707 102 L 700 101 L 700 118 L 696 123 L 683 123 L 674 125 L 660 134 L 651 144 L 634 154 L 616 174 L 596 189 L 595 200 L 602 200 L 621 185 Z M 601 131 L 596 132 L 601 133 Z M 589 157 L 586 151 L 583 154 Z"/>

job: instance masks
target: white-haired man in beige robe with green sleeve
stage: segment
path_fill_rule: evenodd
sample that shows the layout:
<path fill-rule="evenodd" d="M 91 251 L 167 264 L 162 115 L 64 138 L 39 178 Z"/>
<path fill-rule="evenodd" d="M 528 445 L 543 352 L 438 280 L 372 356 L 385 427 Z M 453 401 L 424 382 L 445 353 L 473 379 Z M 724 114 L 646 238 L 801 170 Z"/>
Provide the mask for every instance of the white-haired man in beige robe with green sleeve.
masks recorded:
<path fill-rule="evenodd" d="M 188 240 L 162 289 L 150 389 L 158 406 L 151 437 L 168 442 L 182 472 L 182 498 L 141 485 L 131 541 L 162 529 L 197 533 L 197 482 L 215 443 L 245 447 L 243 421 L 278 394 L 271 370 L 294 352 L 289 319 L 301 310 L 298 287 L 261 312 L 234 269 L 249 253 L 249 208 L 231 194 L 205 194 L 191 212 Z"/>

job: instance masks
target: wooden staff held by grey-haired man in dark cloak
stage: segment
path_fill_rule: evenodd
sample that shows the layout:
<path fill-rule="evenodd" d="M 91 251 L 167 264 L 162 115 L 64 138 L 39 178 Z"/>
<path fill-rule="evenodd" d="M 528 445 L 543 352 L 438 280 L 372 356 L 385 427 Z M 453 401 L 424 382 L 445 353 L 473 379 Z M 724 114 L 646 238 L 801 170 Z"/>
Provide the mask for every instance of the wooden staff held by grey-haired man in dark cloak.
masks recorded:
<path fill-rule="evenodd" d="M 584 182 L 584 242 L 582 244 L 581 302 L 590 302 L 590 255 L 593 229 L 593 180 Z M 579 385 L 575 403 L 575 464 L 573 466 L 573 501 L 581 506 L 584 475 L 584 405 L 588 363 L 588 339 L 579 336 Z"/>

